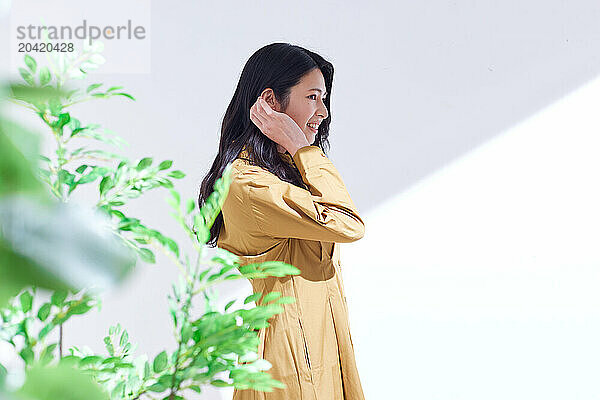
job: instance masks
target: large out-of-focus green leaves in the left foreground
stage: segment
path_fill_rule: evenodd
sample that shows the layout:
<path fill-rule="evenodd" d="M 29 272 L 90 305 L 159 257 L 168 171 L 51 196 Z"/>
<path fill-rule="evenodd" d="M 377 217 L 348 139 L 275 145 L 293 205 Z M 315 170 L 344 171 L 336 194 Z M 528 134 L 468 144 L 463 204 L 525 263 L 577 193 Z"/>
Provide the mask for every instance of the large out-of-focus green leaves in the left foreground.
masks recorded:
<path fill-rule="evenodd" d="M 4 92 L 5 87 L 0 85 L 0 100 L 4 99 Z M 46 98 L 48 94 L 56 95 L 55 91 L 37 88 L 31 88 L 26 92 L 27 98 L 38 101 Z M 56 204 L 49 201 L 48 193 L 43 190 L 42 183 L 35 178 L 37 155 L 37 135 L 0 114 L 0 276 L 2 276 L 0 306 L 29 285 L 63 293 L 70 287 L 92 284 L 93 278 L 116 282 L 133 266 L 131 258 L 123 257 L 124 249 L 119 246 L 120 243 L 115 243 L 114 239 L 108 240 L 101 231 L 88 229 L 90 226 L 100 224 L 94 216 L 86 215 L 86 219 L 83 219 L 71 205 L 59 204 L 60 207 L 56 207 Z M 16 223 L 13 224 L 13 220 Z M 35 222 L 33 226 L 31 221 Z M 58 258 L 43 257 L 39 245 L 44 238 L 36 236 L 39 233 L 39 229 L 36 228 L 40 226 L 43 226 L 43 232 L 50 237 L 60 237 L 61 232 L 83 233 L 89 243 L 82 246 L 77 235 L 67 237 L 72 240 L 52 243 L 56 245 L 53 250 L 59 255 Z M 28 238 L 27 246 L 15 246 L 15 239 L 18 244 L 19 237 Z M 37 248 L 38 251 L 27 251 L 32 247 Z M 91 251 L 92 254 L 102 253 L 103 257 L 90 258 L 86 251 Z M 62 257 L 61 254 L 69 254 L 69 257 Z M 57 267 L 65 266 L 62 261 L 77 264 L 79 269 L 68 271 L 69 274 L 66 276 L 56 274 Z M 86 274 L 89 269 L 93 269 L 94 273 Z M 55 297 L 56 295 L 53 296 L 53 301 L 56 301 Z M 17 300 L 21 312 L 23 310 L 26 313 L 30 312 L 33 307 L 31 293 L 23 292 Z M 81 305 L 73 304 L 67 312 L 76 313 L 81 310 Z M 15 311 L 11 309 L 8 312 Z M 48 307 L 42 307 L 39 316 L 42 319 L 47 318 L 45 315 L 47 313 L 49 313 Z M 18 332 L 21 332 L 22 339 L 28 344 L 19 345 L 20 354 L 21 357 L 30 359 L 32 338 L 28 332 L 30 332 L 31 320 L 21 319 L 20 324 L 11 325 L 4 323 L 7 311 L 2 310 L 1 314 L 3 323 L 0 337 L 12 341 Z M 51 356 L 53 347 L 56 347 L 56 344 L 42 351 L 41 359 L 44 362 L 50 358 L 48 356 Z M 42 367 L 41 364 L 43 363 L 29 369 L 27 380 L 19 390 L 19 397 L 26 396 L 28 399 L 39 400 L 56 397 L 106 398 L 101 388 L 83 371 L 68 366 Z M 0 397 L 3 399 L 12 398 L 5 389 L 7 373 L 6 368 L 0 365 Z"/>

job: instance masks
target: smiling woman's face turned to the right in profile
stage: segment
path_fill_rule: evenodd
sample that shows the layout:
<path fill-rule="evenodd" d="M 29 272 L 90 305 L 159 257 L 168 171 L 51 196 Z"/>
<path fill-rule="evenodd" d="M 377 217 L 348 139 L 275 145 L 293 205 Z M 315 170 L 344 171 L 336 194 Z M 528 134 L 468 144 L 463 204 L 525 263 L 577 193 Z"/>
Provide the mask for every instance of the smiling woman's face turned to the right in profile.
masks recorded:
<path fill-rule="evenodd" d="M 321 121 L 329 116 L 323 103 L 326 95 L 325 79 L 319 68 L 306 73 L 290 89 L 289 103 L 283 112 L 298 124 L 310 144 L 315 141 Z"/>

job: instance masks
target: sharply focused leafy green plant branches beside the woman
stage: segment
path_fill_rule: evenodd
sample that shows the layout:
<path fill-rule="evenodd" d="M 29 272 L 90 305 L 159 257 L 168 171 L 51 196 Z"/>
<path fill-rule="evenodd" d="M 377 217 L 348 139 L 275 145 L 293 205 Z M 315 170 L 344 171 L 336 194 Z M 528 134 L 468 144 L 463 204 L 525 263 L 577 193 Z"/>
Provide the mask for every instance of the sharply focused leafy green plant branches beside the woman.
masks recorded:
<path fill-rule="evenodd" d="M 97 47 L 88 50 L 96 54 Z M 153 166 L 150 157 L 133 163 L 122 155 L 97 148 L 81 146 L 72 149 L 78 139 L 116 146 L 122 144 L 122 140 L 99 125 L 82 123 L 69 111 L 70 106 L 114 96 L 133 99 L 128 93 L 119 91 L 121 87 L 99 91 L 102 86 L 99 83 L 89 85 L 85 90 L 65 91 L 69 77 L 87 75 L 89 64 L 83 68 L 77 63 L 93 63 L 93 60 L 101 59 L 84 54 L 70 61 L 62 60 L 58 65 L 39 68 L 37 61 L 27 55 L 27 68 L 20 69 L 27 85 L 12 85 L 11 101 L 35 111 L 52 132 L 56 152 L 52 157 L 40 157 L 44 164 L 40 178 L 58 200 L 67 202 L 81 185 L 97 182 L 99 199 L 95 209 L 110 218 L 111 231 L 142 260 L 155 262 L 154 252 L 146 247 L 152 246 L 163 251 L 178 267 L 180 280 L 173 285 L 169 296 L 177 347 L 159 353 L 152 360 L 146 355 L 134 358 L 129 335 L 117 324 L 109 329 L 104 339 L 105 355 L 90 354 L 73 347 L 63 356 L 63 324 L 72 316 L 85 314 L 100 305 L 98 295 L 85 289 L 55 291 L 50 301 L 42 302 L 38 307 L 34 307 L 33 301 L 37 295 L 35 288 L 22 291 L 0 312 L 0 338 L 15 346 L 28 371 L 35 370 L 39 374 L 37 368 L 40 366 L 57 368 L 55 365 L 59 361 L 61 366 L 92 376 L 112 399 L 139 399 L 153 393 L 159 393 L 165 399 L 182 399 L 186 390 L 201 392 L 206 384 L 262 391 L 283 387 L 265 372 L 270 364 L 256 354 L 256 330 L 268 326 L 268 319 L 282 311 L 282 304 L 291 303 L 294 298 L 281 297 L 278 292 L 256 293 L 244 300 L 244 304 L 254 301 L 256 306 L 233 310 L 234 299 L 221 311 L 215 306 L 214 287 L 226 280 L 285 276 L 297 274 L 299 270 L 275 261 L 241 266 L 237 256 L 223 249 L 217 249 L 211 258 L 205 256 L 210 227 L 227 196 L 229 167 L 216 182 L 206 204 L 198 208 L 193 199 L 182 202 L 180 193 L 174 189 L 172 179 L 183 178 L 185 174 L 170 170 L 171 160 Z M 75 70 L 78 72 L 73 73 Z M 47 101 L 31 99 L 27 96 L 31 88 L 53 88 L 65 94 L 49 96 Z M 99 161 L 117 165 L 103 165 Z M 191 254 L 182 251 L 177 242 L 158 230 L 125 215 L 120 208 L 128 200 L 158 187 L 170 189 L 171 215 L 191 240 L 194 249 Z M 200 313 L 194 313 L 192 309 L 195 296 L 203 296 L 205 300 L 204 310 Z M 48 341 L 50 332 L 57 327 L 58 342 Z M 15 340 L 17 337 L 21 339 Z"/>

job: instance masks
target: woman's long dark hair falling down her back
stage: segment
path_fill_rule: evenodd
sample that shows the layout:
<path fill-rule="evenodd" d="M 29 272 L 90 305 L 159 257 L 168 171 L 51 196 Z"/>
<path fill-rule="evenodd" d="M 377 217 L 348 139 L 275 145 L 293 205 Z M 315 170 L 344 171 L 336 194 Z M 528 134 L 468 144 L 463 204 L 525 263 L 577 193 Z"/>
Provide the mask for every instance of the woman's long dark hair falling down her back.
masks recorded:
<path fill-rule="evenodd" d="M 213 191 L 215 181 L 225 167 L 233 162 L 248 145 L 248 156 L 253 165 L 260 166 L 275 174 L 279 179 L 306 188 L 296 168 L 286 163 L 277 152 L 277 143 L 269 139 L 250 120 L 250 107 L 266 88 L 273 89 L 275 99 L 285 111 L 289 104 L 290 89 L 301 78 L 315 68 L 319 68 L 325 79 L 328 95 L 323 99 L 328 116 L 321 122 L 315 141 L 311 143 L 326 153 L 329 150 L 329 123 L 331 122 L 331 85 L 333 65 L 323 57 L 303 47 L 289 43 L 272 43 L 257 50 L 246 62 L 233 98 L 227 107 L 223 124 L 219 152 L 202 180 L 198 204 L 202 206 Z M 215 247 L 223 225 L 223 215 L 219 213 L 210 228 L 207 245 Z"/>

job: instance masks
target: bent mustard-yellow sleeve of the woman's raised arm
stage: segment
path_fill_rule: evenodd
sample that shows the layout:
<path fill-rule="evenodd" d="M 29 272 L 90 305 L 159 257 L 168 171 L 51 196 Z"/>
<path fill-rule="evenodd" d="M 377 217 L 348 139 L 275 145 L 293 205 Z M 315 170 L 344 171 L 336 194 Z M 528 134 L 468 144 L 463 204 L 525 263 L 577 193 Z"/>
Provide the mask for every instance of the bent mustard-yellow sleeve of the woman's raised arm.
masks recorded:
<path fill-rule="evenodd" d="M 362 238 L 365 224 L 321 148 L 302 147 L 293 160 L 309 190 L 257 166 L 239 176 L 257 234 L 338 243 Z"/>

